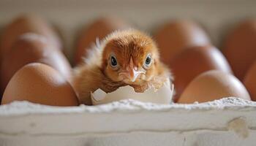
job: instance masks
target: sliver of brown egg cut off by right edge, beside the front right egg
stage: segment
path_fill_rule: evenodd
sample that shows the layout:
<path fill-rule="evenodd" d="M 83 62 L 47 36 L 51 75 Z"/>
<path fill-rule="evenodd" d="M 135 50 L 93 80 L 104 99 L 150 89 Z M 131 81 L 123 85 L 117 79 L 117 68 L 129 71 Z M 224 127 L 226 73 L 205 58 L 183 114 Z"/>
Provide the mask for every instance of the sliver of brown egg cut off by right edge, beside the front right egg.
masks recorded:
<path fill-rule="evenodd" d="M 256 60 L 244 77 L 244 85 L 249 91 L 252 101 L 256 101 Z"/>

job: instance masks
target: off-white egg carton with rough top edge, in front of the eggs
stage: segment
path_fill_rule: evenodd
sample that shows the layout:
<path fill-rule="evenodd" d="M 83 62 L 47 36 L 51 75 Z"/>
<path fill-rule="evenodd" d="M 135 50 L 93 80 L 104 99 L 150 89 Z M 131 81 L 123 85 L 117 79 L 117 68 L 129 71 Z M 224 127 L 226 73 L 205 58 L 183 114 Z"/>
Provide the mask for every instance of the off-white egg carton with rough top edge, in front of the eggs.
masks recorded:
<path fill-rule="evenodd" d="M 255 145 L 256 102 L 225 98 L 202 104 L 122 100 L 51 107 L 0 106 L 0 145 Z"/>

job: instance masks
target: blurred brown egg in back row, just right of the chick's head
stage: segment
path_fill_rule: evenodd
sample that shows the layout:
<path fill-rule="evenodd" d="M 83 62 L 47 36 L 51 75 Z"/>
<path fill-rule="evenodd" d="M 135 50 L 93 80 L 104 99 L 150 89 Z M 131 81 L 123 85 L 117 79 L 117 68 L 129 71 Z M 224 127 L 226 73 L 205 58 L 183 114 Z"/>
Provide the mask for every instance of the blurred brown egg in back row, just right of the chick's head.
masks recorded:
<path fill-rule="evenodd" d="M 176 55 L 189 47 L 210 44 L 206 32 L 189 20 L 167 23 L 157 31 L 155 39 L 165 64 L 169 64 Z"/>

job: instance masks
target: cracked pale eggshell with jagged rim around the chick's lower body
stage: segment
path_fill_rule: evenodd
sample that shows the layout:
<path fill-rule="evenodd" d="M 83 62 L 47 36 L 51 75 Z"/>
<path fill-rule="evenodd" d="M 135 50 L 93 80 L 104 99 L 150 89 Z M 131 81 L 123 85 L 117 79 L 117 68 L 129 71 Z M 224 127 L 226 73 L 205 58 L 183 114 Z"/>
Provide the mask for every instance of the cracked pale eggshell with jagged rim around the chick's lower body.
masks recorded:
<path fill-rule="evenodd" d="M 172 87 L 172 88 L 170 88 Z M 156 104 L 170 104 L 173 96 L 173 85 L 170 85 L 170 80 L 167 80 L 165 84 L 157 91 L 154 88 L 149 88 L 143 93 L 136 93 L 134 88 L 127 85 L 118 88 L 111 93 L 105 93 L 101 89 L 91 93 L 92 104 L 107 104 L 112 101 L 120 101 L 122 99 L 135 99 L 143 102 L 152 102 Z"/>

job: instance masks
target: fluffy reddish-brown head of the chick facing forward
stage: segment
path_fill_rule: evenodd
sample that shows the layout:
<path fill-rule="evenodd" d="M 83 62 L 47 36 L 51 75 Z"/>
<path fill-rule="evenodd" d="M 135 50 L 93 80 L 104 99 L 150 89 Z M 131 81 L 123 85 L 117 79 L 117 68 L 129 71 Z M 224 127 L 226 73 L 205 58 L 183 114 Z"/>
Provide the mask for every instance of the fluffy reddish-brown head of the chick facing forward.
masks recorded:
<path fill-rule="evenodd" d="M 157 73 L 159 52 L 154 40 L 140 31 L 115 31 L 105 39 L 102 70 L 113 81 L 139 85 Z"/>

